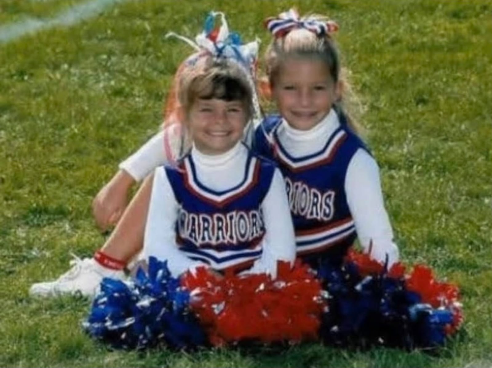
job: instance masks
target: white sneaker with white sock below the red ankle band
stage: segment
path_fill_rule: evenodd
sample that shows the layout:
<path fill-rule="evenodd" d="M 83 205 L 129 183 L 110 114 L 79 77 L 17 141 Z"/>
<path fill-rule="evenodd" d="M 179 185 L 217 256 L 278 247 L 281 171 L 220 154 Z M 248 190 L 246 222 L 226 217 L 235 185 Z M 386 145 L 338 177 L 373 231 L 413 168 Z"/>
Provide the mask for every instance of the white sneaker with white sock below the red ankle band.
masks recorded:
<path fill-rule="evenodd" d="M 63 294 L 81 294 L 93 298 L 99 291 L 99 284 L 105 277 L 123 280 L 123 271 L 111 270 L 101 266 L 94 258 L 75 259 L 70 261 L 72 266 L 56 281 L 34 283 L 29 289 L 29 295 L 49 297 Z"/>

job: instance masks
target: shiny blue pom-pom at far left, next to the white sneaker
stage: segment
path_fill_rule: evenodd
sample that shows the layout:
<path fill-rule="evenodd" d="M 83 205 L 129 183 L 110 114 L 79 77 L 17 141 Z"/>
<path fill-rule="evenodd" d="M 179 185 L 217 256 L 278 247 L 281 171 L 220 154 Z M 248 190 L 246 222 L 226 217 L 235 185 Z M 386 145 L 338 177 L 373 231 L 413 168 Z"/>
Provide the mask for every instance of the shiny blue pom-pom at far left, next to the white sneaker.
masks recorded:
<path fill-rule="evenodd" d="M 188 292 L 166 262 L 151 257 L 148 272 L 139 269 L 132 282 L 103 279 L 83 326 L 114 348 L 143 349 L 160 342 L 179 349 L 205 345 L 206 335 L 188 303 Z"/>

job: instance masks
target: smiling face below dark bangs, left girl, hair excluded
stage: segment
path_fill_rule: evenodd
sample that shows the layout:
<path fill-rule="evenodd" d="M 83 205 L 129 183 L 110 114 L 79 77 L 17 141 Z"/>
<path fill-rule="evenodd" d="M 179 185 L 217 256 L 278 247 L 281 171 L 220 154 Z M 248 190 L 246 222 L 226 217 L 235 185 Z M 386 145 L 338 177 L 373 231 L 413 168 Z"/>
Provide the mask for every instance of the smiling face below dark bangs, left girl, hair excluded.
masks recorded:
<path fill-rule="evenodd" d="M 242 101 L 199 98 L 188 113 L 187 127 L 200 152 L 219 155 L 241 140 L 247 116 Z"/>

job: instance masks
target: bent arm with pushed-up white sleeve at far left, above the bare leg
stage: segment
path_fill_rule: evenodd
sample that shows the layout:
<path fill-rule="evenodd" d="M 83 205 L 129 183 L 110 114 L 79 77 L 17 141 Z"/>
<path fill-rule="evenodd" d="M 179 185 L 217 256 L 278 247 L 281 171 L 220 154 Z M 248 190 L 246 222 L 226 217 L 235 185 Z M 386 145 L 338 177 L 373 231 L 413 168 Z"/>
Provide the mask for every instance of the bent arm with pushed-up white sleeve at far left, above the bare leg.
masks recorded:
<path fill-rule="evenodd" d="M 120 170 L 95 196 L 92 201 L 92 214 L 101 230 L 106 230 L 108 226 L 115 225 L 120 220 L 128 204 L 128 192 L 132 185 L 167 161 L 163 135 L 163 131 L 157 133 L 124 160 L 119 166 Z"/>

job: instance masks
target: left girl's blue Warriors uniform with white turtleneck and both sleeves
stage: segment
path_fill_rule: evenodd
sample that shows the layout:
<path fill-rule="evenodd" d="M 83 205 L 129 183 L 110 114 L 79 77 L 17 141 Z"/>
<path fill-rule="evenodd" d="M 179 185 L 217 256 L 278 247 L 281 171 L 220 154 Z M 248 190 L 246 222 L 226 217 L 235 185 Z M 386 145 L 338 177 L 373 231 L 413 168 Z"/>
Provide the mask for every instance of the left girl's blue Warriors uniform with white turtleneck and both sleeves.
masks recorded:
<path fill-rule="evenodd" d="M 177 167 L 155 170 L 144 255 L 179 275 L 199 265 L 276 274 L 295 258 L 280 171 L 242 143 L 211 156 L 196 147 Z"/>

